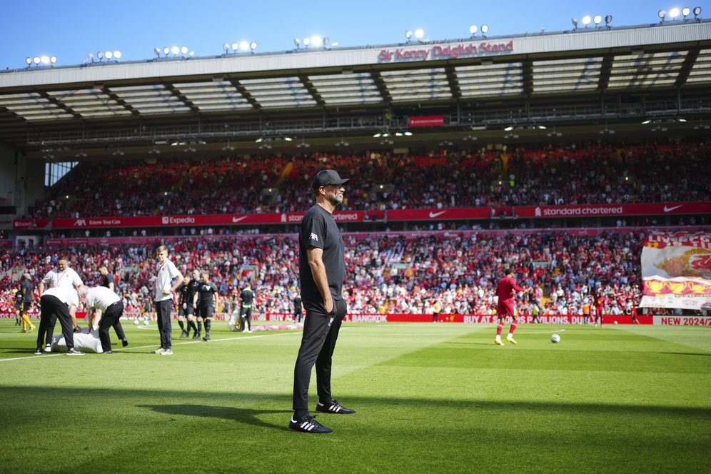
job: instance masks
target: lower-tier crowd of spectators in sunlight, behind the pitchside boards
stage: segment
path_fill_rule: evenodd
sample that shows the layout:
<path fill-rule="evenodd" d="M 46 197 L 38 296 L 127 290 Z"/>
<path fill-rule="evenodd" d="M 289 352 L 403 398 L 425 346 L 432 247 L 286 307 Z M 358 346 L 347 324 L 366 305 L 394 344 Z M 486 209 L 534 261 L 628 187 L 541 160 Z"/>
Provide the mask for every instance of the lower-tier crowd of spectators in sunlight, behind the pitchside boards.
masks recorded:
<path fill-rule="evenodd" d="M 435 302 L 443 313 L 490 314 L 494 290 L 505 266 L 515 269 L 521 286 L 522 313 L 540 304 L 550 314 L 583 313 L 593 293 L 607 298 L 607 314 L 630 314 L 640 301 L 640 252 L 643 236 L 620 231 L 597 236 L 568 233 L 430 233 L 408 237 L 346 234 L 346 285 L 351 313 L 430 313 Z M 99 283 L 98 267 L 114 271 L 117 291 L 128 307 L 152 311 L 155 259 L 152 246 L 24 248 L 0 256 L 0 306 L 9 311 L 14 277 L 30 273 L 34 286 L 56 258 L 84 282 Z M 186 237 L 168 242 L 171 258 L 183 274 L 206 270 L 221 295 L 221 310 L 249 282 L 258 313 L 291 313 L 298 292 L 298 250 L 293 236 L 254 238 Z"/>

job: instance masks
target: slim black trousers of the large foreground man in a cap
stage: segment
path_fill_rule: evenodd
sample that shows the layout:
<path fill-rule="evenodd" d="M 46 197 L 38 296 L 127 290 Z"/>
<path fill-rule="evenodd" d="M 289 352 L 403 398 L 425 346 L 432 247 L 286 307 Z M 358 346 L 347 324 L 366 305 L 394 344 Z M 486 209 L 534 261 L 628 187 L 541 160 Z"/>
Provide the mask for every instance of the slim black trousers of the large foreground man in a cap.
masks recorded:
<path fill-rule="evenodd" d="M 316 364 L 318 398 L 331 398 L 331 360 L 338 331 L 346 316 L 346 301 L 333 301 L 333 311 L 326 313 L 322 303 L 305 303 L 306 319 L 301 334 L 301 347 L 294 365 L 293 409 L 308 410 L 308 385 L 311 369 Z"/>

